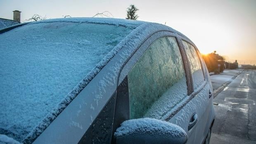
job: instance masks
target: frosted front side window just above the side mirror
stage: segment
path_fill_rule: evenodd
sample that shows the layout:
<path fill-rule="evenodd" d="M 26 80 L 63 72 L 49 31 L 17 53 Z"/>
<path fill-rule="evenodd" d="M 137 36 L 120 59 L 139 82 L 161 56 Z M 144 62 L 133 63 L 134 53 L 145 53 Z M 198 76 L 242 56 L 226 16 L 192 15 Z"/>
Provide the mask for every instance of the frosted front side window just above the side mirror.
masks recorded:
<path fill-rule="evenodd" d="M 160 118 L 187 96 L 183 61 L 174 37 L 155 40 L 128 73 L 130 119 Z"/>

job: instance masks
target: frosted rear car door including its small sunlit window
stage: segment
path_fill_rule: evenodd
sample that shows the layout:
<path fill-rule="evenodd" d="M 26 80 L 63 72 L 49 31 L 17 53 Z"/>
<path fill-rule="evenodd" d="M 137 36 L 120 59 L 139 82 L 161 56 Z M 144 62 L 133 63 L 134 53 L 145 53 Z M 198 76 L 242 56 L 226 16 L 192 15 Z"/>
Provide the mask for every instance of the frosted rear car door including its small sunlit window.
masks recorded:
<path fill-rule="evenodd" d="M 191 97 L 193 99 L 192 102 L 195 104 L 194 109 L 196 110 L 198 119 L 196 125 L 197 134 L 194 143 L 201 144 L 208 133 L 209 114 L 211 114 L 209 94 L 212 94 L 212 92 L 204 75 L 204 68 L 202 68 L 202 61 L 199 59 L 199 52 L 191 43 L 185 40 L 182 43 L 192 73 L 193 93 Z"/>

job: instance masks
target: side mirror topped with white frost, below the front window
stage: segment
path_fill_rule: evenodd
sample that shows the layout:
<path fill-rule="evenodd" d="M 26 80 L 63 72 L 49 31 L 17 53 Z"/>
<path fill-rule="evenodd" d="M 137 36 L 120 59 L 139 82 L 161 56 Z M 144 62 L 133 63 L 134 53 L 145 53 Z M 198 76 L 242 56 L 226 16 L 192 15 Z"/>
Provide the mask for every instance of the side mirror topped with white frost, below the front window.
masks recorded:
<path fill-rule="evenodd" d="M 153 118 L 124 121 L 114 133 L 116 144 L 185 144 L 187 133 L 178 125 Z"/>

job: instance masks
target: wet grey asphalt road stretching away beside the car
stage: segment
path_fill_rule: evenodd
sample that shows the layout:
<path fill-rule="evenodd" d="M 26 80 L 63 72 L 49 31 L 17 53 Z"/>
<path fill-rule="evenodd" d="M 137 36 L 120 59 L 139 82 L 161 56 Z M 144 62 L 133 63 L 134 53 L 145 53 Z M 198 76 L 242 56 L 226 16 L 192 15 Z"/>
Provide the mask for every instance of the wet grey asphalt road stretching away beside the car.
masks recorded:
<path fill-rule="evenodd" d="M 211 79 L 215 91 L 222 88 L 213 100 L 210 144 L 256 144 L 256 70 L 226 71 Z"/>

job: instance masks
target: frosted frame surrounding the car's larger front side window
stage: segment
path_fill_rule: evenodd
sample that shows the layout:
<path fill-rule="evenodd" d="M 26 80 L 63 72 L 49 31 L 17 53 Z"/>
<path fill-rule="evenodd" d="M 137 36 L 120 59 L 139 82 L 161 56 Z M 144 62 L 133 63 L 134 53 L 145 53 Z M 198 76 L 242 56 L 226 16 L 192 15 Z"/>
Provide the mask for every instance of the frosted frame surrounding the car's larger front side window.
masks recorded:
<path fill-rule="evenodd" d="M 126 60 L 126 62 L 123 64 L 122 68 L 120 69 L 117 87 L 119 87 L 122 84 L 123 80 L 125 80 L 125 78 L 127 78 L 127 75 L 130 72 L 130 70 L 133 68 L 135 63 L 140 59 L 140 57 L 144 54 L 144 52 L 147 50 L 147 48 L 152 44 L 152 42 L 154 42 L 156 39 L 162 38 L 162 37 L 173 37 L 176 39 L 179 50 L 180 50 L 181 58 L 183 61 L 183 68 L 185 71 L 185 77 L 186 77 L 186 82 L 187 82 L 186 83 L 187 84 L 187 95 L 190 96 L 192 94 L 192 90 L 193 90 L 192 89 L 192 75 L 191 75 L 189 65 L 187 65 L 188 59 L 187 59 L 185 50 L 182 46 L 181 36 L 178 35 L 177 33 L 173 33 L 172 31 L 158 31 L 158 32 L 152 33 L 141 43 L 141 45 L 139 47 L 136 48 L 136 50 L 133 52 L 133 54 L 131 54 L 131 56 Z M 128 86 L 126 88 L 126 91 L 128 91 Z M 116 105 L 118 105 L 119 102 L 123 103 L 121 100 L 118 102 L 118 95 L 119 95 L 119 93 L 117 93 Z M 128 95 L 128 97 L 129 97 L 129 95 Z M 124 99 L 127 99 L 127 98 L 124 98 Z M 171 117 L 173 117 L 176 113 L 178 113 L 178 111 L 180 111 L 188 102 L 190 102 L 190 100 L 191 100 L 191 98 L 189 98 L 186 102 L 181 104 L 165 120 L 168 121 L 169 119 L 171 119 Z M 125 105 L 127 105 L 127 104 L 125 104 Z M 128 105 L 130 106 L 129 102 L 128 102 Z M 121 110 L 118 107 L 116 107 L 115 115 L 116 115 L 116 113 L 120 113 L 119 111 L 121 111 Z M 122 112 L 126 113 L 125 115 L 127 115 L 127 113 L 128 113 L 128 115 L 130 116 L 130 111 L 127 110 L 127 111 L 122 111 Z M 118 119 L 119 118 L 117 118 L 115 116 L 114 125 L 120 124 L 120 120 L 118 120 Z M 129 118 L 124 119 L 124 120 L 128 120 L 128 119 Z M 116 124 L 117 121 L 119 121 L 119 124 Z M 115 132 L 116 128 L 117 127 L 113 127 L 113 133 Z"/>

